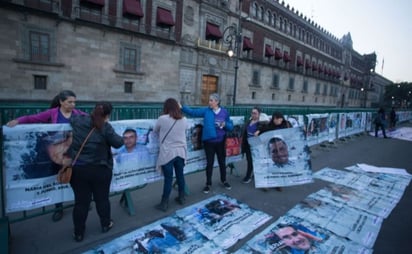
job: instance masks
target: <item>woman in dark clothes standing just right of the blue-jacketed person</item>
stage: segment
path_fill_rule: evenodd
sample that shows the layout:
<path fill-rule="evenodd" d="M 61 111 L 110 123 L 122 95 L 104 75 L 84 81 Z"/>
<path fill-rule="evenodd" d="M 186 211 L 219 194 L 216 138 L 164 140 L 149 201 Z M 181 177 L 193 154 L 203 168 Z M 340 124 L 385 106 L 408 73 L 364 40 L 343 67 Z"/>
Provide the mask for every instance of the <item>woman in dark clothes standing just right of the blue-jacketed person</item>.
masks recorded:
<path fill-rule="evenodd" d="M 258 107 L 252 108 L 250 119 L 246 122 L 243 128 L 243 139 L 242 139 L 242 153 L 246 155 L 246 162 L 247 162 L 247 171 L 246 175 L 243 178 L 243 183 L 250 183 L 252 181 L 252 173 L 253 173 L 253 159 L 252 159 L 252 152 L 250 150 L 250 145 L 248 142 L 248 138 L 254 137 L 256 131 L 261 128 L 267 122 L 260 121 L 260 114 L 261 110 Z"/>

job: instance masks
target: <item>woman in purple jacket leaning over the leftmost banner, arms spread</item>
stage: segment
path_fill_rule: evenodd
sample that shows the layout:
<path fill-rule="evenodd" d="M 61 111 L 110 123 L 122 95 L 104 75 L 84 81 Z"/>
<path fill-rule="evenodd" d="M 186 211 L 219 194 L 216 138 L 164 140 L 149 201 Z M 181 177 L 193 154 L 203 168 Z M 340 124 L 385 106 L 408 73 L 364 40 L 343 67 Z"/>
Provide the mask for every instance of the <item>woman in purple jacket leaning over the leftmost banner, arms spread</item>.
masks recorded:
<path fill-rule="evenodd" d="M 70 118 L 74 115 L 87 115 L 87 113 L 75 109 L 76 94 L 70 90 L 63 90 L 57 94 L 50 105 L 50 109 L 33 114 L 26 115 L 11 120 L 7 123 L 8 127 L 14 127 L 18 124 L 34 124 L 34 123 L 69 123 Z M 61 168 L 60 163 L 53 163 L 55 174 Z M 57 203 L 56 210 L 53 213 L 53 221 L 59 221 L 63 218 L 63 203 Z"/>

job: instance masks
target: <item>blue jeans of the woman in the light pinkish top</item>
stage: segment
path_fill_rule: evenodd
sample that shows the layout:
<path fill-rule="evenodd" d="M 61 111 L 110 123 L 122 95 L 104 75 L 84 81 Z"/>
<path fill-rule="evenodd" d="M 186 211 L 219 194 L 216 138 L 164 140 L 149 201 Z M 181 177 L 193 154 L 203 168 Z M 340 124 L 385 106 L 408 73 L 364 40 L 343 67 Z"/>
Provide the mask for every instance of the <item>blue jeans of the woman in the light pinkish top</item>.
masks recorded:
<path fill-rule="evenodd" d="M 162 165 L 162 171 L 164 176 L 163 182 L 163 195 L 162 198 L 169 198 L 170 192 L 172 192 L 173 184 L 173 168 L 176 175 L 176 182 L 178 185 L 179 193 L 185 191 L 185 177 L 183 175 L 183 168 L 185 167 L 185 160 L 181 157 L 175 157 L 165 165 Z"/>

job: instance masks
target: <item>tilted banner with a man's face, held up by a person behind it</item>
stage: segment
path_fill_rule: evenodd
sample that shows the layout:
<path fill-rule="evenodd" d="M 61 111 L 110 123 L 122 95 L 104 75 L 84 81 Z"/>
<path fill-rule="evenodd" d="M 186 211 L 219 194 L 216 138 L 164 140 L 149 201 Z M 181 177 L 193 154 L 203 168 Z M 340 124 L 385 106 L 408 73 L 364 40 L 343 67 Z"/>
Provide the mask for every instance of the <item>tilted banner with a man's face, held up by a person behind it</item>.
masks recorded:
<path fill-rule="evenodd" d="M 269 131 L 248 139 L 256 188 L 312 182 L 305 134 L 299 127 Z"/>

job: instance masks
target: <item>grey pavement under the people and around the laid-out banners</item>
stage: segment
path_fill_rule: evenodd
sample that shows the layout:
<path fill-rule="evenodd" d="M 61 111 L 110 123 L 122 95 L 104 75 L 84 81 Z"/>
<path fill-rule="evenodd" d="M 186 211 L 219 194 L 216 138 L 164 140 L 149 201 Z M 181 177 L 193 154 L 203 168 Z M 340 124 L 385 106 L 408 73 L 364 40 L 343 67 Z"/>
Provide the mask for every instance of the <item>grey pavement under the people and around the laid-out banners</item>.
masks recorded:
<path fill-rule="evenodd" d="M 403 126 L 410 127 L 412 125 Z M 343 169 L 356 163 L 366 163 L 374 166 L 404 168 L 409 173 L 412 173 L 412 142 L 410 141 L 375 138 L 364 134 L 352 137 L 344 142 L 338 141 L 331 147 L 314 146 L 311 150 L 312 169 L 314 172 L 324 167 Z M 232 185 L 232 190 L 226 190 L 220 186 L 217 169 L 214 171 L 214 182 L 212 191 L 209 194 L 204 194 L 201 191 L 205 183 L 205 173 L 203 171 L 186 176 L 190 191 L 187 197 L 187 205 L 199 202 L 214 194 L 225 193 L 254 209 L 273 216 L 272 220 L 254 232 L 257 233 L 284 215 L 307 195 L 316 192 L 328 184 L 315 179 L 315 182 L 312 184 L 285 187 L 282 192 L 274 189 L 264 192 L 260 189 L 255 189 L 253 181 L 249 184 L 242 183 L 242 178 L 246 171 L 245 164 L 245 161 L 236 163 L 237 170 L 234 173 L 239 172 L 239 176 L 235 174 L 230 175 L 228 171 L 228 181 Z M 167 213 L 154 208 L 160 201 L 162 184 L 163 182 L 148 184 L 143 189 L 132 192 L 136 209 L 135 216 L 130 216 L 119 205 L 119 195 L 112 197 L 112 218 L 115 225 L 106 234 L 102 234 L 100 231 L 96 210 L 93 207 L 89 213 L 85 239 L 81 243 L 77 243 L 72 239 L 71 208 L 64 211 L 64 217 L 59 222 L 52 222 L 51 214 L 48 214 L 23 222 L 13 223 L 10 226 L 12 236 L 10 253 L 81 253 L 168 216 L 174 213 L 175 210 L 182 208 L 182 206 L 177 205 L 173 201 L 173 198 L 177 195 L 176 191 L 174 191 Z M 401 201 L 392 211 L 391 215 L 384 220 L 379 237 L 374 245 L 374 253 L 410 252 L 410 238 L 412 235 L 411 200 L 412 187 L 409 185 Z M 236 251 L 252 236 L 253 233 L 247 238 L 242 239 L 228 251 Z"/>

